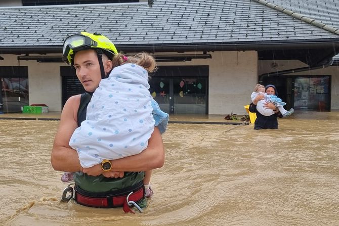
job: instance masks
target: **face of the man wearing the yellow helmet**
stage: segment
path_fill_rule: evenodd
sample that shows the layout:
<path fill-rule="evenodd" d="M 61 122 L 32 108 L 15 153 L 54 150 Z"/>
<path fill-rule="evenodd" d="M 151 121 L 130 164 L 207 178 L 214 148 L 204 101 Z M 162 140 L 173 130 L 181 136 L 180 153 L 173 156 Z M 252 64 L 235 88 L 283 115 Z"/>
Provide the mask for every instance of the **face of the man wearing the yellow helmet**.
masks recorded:
<path fill-rule="evenodd" d="M 101 81 L 100 65 L 94 50 L 82 50 L 74 56 L 76 76 L 87 92 L 94 92 Z"/>

